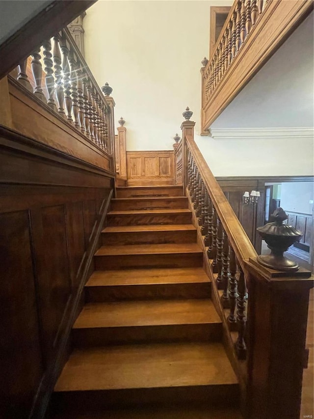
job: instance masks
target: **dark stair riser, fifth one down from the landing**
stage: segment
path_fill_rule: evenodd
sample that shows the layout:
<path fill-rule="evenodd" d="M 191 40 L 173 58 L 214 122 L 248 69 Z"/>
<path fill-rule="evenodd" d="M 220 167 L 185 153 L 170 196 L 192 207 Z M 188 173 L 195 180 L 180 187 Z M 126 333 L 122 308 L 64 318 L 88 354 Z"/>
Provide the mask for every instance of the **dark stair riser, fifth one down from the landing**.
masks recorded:
<path fill-rule="evenodd" d="M 186 268 L 203 265 L 203 253 L 124 254 L 94 256 L 95 269 Z"/>

